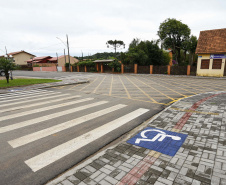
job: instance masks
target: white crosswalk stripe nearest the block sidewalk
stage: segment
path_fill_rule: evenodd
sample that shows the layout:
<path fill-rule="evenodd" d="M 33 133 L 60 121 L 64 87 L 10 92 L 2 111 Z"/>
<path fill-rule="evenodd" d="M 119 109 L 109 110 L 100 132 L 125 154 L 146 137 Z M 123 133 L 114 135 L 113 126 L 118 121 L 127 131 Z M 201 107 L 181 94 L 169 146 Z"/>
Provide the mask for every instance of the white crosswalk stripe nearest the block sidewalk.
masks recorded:
<path fill-rule="evenodd" d="M 107 135 L 113 130 L 123 126 L 129 121 L 141 116 L 148 112 L 148 109 L 137 109 L 129 114 L 126 114 L 114 121 L 106 123 L 105 125 L 98 127 L 84 135 L 74 138 L 64 144 L 61 144 L 55 148 L 52 148 L 44 153 L 41 153 L 31 159 L 25 161 L 25 163 L 36 172 L 49 164 L 67 156 L 68 154 L 90 144 L 91 142 Z"/>

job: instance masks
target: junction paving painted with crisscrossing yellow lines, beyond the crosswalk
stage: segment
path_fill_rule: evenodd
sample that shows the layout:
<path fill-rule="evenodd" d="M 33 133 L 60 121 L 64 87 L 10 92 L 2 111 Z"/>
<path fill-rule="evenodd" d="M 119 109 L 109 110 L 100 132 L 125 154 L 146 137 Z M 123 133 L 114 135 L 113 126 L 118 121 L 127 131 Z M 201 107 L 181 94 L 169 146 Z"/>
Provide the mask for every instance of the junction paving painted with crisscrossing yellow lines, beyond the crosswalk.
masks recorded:
<path fill-rule="evenodd" d="M 56 88 L 169 105 L 181 98 L 205 92 L 223 91 L 226 87 L 224 79 L 158 75 L 93 74 L 89 80 L 88 84 Z"/>

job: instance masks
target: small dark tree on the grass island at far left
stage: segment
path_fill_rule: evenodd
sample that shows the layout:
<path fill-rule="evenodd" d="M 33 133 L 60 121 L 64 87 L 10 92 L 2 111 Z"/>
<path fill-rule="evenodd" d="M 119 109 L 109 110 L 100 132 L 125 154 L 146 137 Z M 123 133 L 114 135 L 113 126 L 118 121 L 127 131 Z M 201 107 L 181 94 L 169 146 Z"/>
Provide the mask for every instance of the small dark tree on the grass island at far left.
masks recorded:
<path fill-rule="evenodd" d="M 15 67 L 16 66 L 12 58 L 0 58 L 0 69 L 4 70 L 7 83 L 9 83 L 9 71 L 14 70 Z"/>

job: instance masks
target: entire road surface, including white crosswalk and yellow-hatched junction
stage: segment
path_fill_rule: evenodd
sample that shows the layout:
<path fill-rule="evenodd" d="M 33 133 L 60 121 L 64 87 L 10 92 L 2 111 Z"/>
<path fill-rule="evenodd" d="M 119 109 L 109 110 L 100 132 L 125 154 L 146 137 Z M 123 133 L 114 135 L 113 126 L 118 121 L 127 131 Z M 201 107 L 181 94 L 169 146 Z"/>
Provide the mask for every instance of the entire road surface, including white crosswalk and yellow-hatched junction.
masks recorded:
<path fill-rule="evenodd" d="M 44 184 L 146 121 L 195 94 L 225 90 L 226 80 L 150 75 L 24 72 L 90 83 L 0 96 L 0 184 Z"/>

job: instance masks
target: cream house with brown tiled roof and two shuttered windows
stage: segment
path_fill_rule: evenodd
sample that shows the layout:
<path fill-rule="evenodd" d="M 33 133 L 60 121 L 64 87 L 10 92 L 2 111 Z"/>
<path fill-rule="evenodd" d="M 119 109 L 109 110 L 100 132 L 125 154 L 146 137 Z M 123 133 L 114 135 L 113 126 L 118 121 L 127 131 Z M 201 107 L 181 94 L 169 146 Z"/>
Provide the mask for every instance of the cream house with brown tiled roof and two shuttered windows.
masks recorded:
<path fill-rule="evenodd" d="M 196 54 L 197 76 L 225 76 L 226 28 L 201 31 Z"/>

